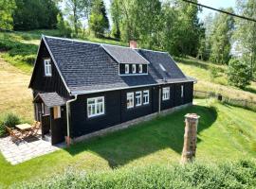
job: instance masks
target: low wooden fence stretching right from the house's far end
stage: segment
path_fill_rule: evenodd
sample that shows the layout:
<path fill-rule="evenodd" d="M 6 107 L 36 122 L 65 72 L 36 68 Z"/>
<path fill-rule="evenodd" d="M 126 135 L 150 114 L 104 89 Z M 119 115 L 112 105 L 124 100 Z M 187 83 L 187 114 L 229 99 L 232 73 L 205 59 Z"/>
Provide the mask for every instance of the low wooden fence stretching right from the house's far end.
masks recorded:
<path fill-rule="evenodd" d="M 217 98 L 219 101 L 223 103 L 227 103 L 229 105 L 242 107 L 251 111 L 256 112 L 256 102 L 255 101 L 249 101 L 247 99 L 238 99 L 238 98 L 230 98 L 229 96 L 224 96 L 222 94 L 216 94 L 214 92 L 204 92 L 204 91 L 193 91 L 194 97 L 199 98 Z"/>

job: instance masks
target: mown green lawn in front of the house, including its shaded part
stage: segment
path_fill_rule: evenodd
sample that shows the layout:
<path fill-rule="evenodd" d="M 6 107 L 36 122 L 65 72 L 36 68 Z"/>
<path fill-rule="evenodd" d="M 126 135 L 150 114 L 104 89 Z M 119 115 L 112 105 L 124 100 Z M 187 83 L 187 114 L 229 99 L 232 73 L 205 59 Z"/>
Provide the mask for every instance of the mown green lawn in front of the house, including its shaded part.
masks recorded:
<path fill-rule="evenodd" d="M 18 165 L 10 165 L 0 155 L 0 183 L 9 185 L 42 179 L 67 169 L 93 172 L 155 163 L 178 163 L 183 146 L 184 115 L 187 112 L 196 112 L 201 116 L 196 160 L 219 163 L 255 157 L 256 112 L 222 105 L 213 100 L 196 100 L 194 106 L 180 112 Z"/>

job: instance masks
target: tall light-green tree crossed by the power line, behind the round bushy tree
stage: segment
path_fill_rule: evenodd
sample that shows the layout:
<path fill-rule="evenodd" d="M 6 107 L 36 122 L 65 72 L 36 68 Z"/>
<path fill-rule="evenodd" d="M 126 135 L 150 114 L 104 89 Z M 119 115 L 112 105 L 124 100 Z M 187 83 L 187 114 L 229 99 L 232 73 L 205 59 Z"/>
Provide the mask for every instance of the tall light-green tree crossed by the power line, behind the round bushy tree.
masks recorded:
<path fill-rule="evenodd" d="M 233 12 L 233 9 L 225 9 Z M 210 39 L 210 60 L 216 63 L 229 63 L 231 50 L 231 36 L 234 28 L 234 19 L 228 14 L 218 13 L 213 20 L 213 29 Z"/>

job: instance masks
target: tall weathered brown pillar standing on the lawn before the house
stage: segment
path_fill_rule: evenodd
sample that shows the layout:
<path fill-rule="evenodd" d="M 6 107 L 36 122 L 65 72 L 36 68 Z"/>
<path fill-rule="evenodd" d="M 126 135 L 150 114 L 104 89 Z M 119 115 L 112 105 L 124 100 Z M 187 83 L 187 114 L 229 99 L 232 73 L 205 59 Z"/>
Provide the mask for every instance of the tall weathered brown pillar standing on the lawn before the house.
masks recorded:
<path fill-rule="evenodd" d="M 188 113 L 185 115 L 184 145 L 182 150 L 181 163 L 192 162 L 196 151 L 196 134 L 199 115 Z"/>

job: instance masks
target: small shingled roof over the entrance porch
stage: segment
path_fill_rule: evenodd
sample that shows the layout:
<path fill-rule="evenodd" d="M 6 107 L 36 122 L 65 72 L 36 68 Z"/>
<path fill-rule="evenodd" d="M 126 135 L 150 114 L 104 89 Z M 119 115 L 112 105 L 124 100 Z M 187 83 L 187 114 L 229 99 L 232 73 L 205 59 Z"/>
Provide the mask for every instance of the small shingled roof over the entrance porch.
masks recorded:
<path fill-rule="evenodd" d="M 40 97 L 47 107 L 63 106 L 65 100 L 57 93 L 39 93 L 35 98 Z"/>

